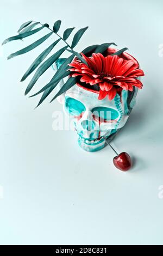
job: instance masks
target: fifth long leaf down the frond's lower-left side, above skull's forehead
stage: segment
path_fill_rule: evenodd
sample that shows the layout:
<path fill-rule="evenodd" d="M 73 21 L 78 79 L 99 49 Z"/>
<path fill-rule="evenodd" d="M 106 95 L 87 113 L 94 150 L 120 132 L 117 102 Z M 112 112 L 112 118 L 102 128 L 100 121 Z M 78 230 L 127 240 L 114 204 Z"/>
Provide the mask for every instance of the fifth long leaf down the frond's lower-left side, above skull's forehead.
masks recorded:
<path fill-rule="evenodd" d="M 31 95 L 30 97 L 36 96 L 42 92 L 44 92 L 45 90 L 47 90 L 49 87 L 53 86 L 53 83 L 59 82 L 62 78 L 68 76 L 71 74 L 71 71 L 67 71 L 68 64 L 72 62 L 74 58 L 74 54 L 72 54 L 70 57 L 68 57 L 64 63 L 62 63 L 62 65 L 60 66 L 60 68 L 57 70 L 57 72 L 55 73 L 55 75 L 53 76 L 52 80 L 46 84 L 46 86 L 44 86 L 41 90 L 39 90 L 39 92 Z"/>

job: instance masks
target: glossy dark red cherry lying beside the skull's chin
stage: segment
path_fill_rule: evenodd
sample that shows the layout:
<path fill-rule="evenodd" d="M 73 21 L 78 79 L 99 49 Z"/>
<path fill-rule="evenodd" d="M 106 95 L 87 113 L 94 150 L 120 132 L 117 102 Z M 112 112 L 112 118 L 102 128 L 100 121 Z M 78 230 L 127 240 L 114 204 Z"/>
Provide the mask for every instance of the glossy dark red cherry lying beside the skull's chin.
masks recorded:
<path fill-rule="evenodd" d="M 122 152 L 120 155 L 115 156 L 113 163 L 116 168 L 123 170 L 123 172 L 126 172 L 126 170 L 131 168 L 131 159 L 126 152 Z"/>

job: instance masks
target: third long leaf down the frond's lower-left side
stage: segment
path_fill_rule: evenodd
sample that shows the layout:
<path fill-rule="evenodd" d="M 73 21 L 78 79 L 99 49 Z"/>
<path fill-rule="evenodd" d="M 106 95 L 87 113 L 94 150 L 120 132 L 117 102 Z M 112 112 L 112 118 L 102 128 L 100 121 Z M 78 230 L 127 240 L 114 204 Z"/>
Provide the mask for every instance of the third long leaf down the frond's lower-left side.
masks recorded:
<path fill-rule="evenodd" d="M 45 51 L 43 51 L 30 65 L 29 69 L 26 71 L 26 73 L 23 75 L 21 82 L 24 81 L 36 68 L 40 65 L 40 63 L 48 56 L 48 54 L 52 51 L 55 45 L 60 41 L 61 39 L 58 39 L 57 41 L 53 42 L 52 45 L 47 47 Z"/>

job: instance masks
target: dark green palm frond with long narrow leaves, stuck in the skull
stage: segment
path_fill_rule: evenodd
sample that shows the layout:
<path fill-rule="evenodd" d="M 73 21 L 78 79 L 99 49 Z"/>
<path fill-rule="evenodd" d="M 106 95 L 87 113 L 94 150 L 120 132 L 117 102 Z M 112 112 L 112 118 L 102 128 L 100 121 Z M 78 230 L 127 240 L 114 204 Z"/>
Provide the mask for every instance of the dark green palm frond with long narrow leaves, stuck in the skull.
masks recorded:
<path fill-rule="evenodd" d="M 39 28 L 35 28 L 35 26 L 39 25 Z M 32 80 L 29 82 L 25 95 L 27 95 L 30 90 L 34 87 L 35 83 L 39 78 L 42 76 L 44 72 L 46 72 L 61 56 L 62 53 L 66 51 L 71 53 L 71 56 L 68 57 L 64 63 L 61 64 L 60 68 L 57 70 L 57 72 L 54 74 L 52 77 L 51 81 L 49 81 L 46 86 L 44 86 L 42 89 L 39 90 L 39 92 L 35 93 L 32 96 L 36 96 L 40 93 L 43 93 L 41 96 L 41 99 L 38 103 L 37 106 L 39 106 L 45 99 L 46 97 L 53 92 L 54 88 L 57 87 L 59 82 L 67 77 L 68 80 L 66 83 L 60 88 L 59 92 L 53 97 L 51 101 L 53 101 L 57 96 L 59 96 L 61 93 L 66 92 L 66 90 L 70 89 L 74 84 L 77 82 L 77 78 L 72 78 L 70 76 L 71 72 L 67 70 L 68 64 L 70 64 L 73 60 L 73 58 L 76 56 L 78 59 L 80 59 L 81 62 L 86 63 L 85 59 L 82 57 L 82 54 L 76 52 L 73 50 L 73 48 L 78 44 L 79 40 L 82 38 L 83 34 L 87 30 L 88 27 L 81 28 L 79 29 L 73 36 L 71 45 L 68 44 L 66 41 L 69 36 L 72 34 L 74 31 L 74 27 L 72 28 L 67 28 L 63 36 L 59 34 L 59 29 L 61 26 L 61 21 L 58 20 L 54 23 L 53 29 L 49 28 L 49 25 L 47 23 L 42 24 L 41 22 L 36 22 L 36 21 L 27 21 L 24 22 L 20 28 L 18 29 L 17 33 L 18 35 L 11 36 L 10 38 L 7 38 L 3 41 L 2 45 L 7 44 L 10 41 L 14 40 L 22 40 L 23 38 L 26 38 L 30 35 L 34 35 L 35 33 L 41 31 L 43 28 L 46 28 L 49 30 L 49 33 L 46 34 L 45 36 L 42 36 L 40 39 L 34 41 L 32 44 L 28 45 L 27 47 L 22 48 L 21 50 L 14 52 L 9 55 L 8 59 L 14 58 L 16 56 L 19 56 L 21 54 L 27 53 L 37 46 L 41 45 L 44 41 L 46 41 L 52 34 L 55 34 L 58 36 L 58 40 L 55 40 L 51 45 L 49 45 L 43 52 L 39 54 L 39 56 L 33 61 L 33 63 L 29 66 L 28 70 L 25 72 L 23 75 L 21 82 L 26 80 L 26 78 L 32 74 L 32 72 L 37 68 Z M 63 41 L 65 46 L 60 48 L 57 52 L 53 53 L 52 56 L 48 57 L 46 60 L 45 58 L 48 56 L 49 53 L 53 50 L 53 48 L 60 42 Z M 82 52 L 84 54 L 90 53 L 90 52 L 101 52 L 103 53 L 110 45 L 116 45 L 114 42 L 111 43 L 106 43 L 102 45 L 92 45 L 89 47 L 86 47 Z M 123 48 L 120 51 L 117 51 L 114 54 L 121 54 L 123 51 L 127 50 L 127 48 Z M 45 61 L 44 61 L 45 60 Z"/>

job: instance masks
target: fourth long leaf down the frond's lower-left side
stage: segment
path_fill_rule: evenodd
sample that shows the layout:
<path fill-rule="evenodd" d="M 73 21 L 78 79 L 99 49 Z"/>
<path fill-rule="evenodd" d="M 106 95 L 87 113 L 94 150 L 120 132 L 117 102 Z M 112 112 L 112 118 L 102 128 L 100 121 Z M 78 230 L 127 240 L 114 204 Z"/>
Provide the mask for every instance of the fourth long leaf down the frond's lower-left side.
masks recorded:
<path fill-rule="evenodd" d="M 35 72 L 35 75 L 33 76 L 32 80 L 28 84 L 28 87 L 26 89 L 25 95 L 30 92 L 30 90 L 33 88 L 34 84 L 37 82 L 39 77 L 57 60 L 60 55 L 66 50 L 68 46 L 65 46 L 61 48 L 58 52 L 55 52 L 51 57 L 49 57 L 45 62 L 41 64 L 41 66 L 37 69 Z"/>

